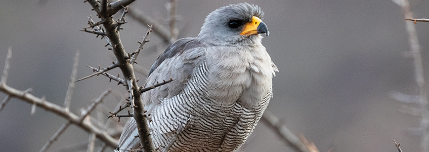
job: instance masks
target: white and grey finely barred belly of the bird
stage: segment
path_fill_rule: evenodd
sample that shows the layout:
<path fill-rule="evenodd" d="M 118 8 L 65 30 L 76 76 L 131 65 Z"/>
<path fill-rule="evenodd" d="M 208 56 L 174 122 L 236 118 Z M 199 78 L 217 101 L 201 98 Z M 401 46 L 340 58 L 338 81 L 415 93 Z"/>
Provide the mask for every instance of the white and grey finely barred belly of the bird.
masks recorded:
<path fill-rule="evenodd" d="M 270 89 L 255 108 L 246 108 L 239 101 L 221 105 L 206 96 L 207 83 L 207 67 L 202 64 L 183 93 L 161 99 L 149 111 L 156 151 L 162 151 L 179 128 L 183 129 L 169 151 L 235 151 L 253 131 L 272 96 Z"/>

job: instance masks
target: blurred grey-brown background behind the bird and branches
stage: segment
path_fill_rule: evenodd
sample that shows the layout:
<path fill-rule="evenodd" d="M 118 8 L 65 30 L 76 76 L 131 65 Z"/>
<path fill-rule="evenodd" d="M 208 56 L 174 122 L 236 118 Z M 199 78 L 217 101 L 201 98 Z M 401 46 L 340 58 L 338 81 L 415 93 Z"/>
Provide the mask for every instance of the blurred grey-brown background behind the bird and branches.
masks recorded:
<path fill-rule="evenodd" d="M 131 7 L 166 23 L 168 2 L 137 1 Z M 270 36 L 263 44 L 279 68 L 268 110 L 294 134 L 303 134 L 320 151 L 331 147 L 335 151 L 397 151 L 394 139 L 404 151 L 420 151 L 420 136 L 407 133 L 419 126 L 420 119 L 400 112 L 403 104 L 389 97 L 392 91 L 418 94 L 413 61 L 402 56 L 409 45 L 398 5 L 392 1 L 178 1 L 179 38 L 195 37 L 211 11 L 241 2 L 265 11 Z M 410 4 L 415 18 L 429 18 L 429 2 Z M 76 51 L 80 52 L 78 79 L 92 73 L 85 65 L 110 65 L 114 59 L 104 47 L 106 41 L 79 31 L 87 26 L 87 16 L 98 21 L 91 9 L 83 0 L 2 1 L 0 67 L 3 70 L 11 47 L 8 85 L 32 88 L 33 95 L 63 105 Z M 132 52 L 147 27 L 130 16 L 125 20 L 121 40 L 125 50 Z M 416 24 L 425 73 L 429 71 L 428 27 L 429 23 Z M 150 68 L 166 47 L 154 33 L 149 39 L 137 61 L 144 68 Z M 104 101 L 113 111 L 125 90 L 108 81 L 99 76 L 75 83 L 71 111 L 79 113 L 107 88 L 117 90 Z M 5 97 L 0 93 L 1 100 Z M 30 110 L 31 105 L 12 99 L 0 112 L 1 151 L 38 151 L 66 122 L 40 108 L 31 116 Z M 102 118 L 106 116 L 107 112 Z M 71 126 L 49 151 L 62 151 L 88 138 L 86 132 Z M 80 151 L 86 151 L 85 147 Z M 260 123 L 241 151 L 293 150 Z"/>

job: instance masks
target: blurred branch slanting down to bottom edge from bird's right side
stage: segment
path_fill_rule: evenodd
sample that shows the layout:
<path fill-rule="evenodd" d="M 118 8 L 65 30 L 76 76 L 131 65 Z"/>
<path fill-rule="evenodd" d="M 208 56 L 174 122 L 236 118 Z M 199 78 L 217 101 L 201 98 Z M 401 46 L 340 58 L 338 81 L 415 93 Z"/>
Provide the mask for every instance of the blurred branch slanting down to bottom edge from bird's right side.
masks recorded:
<path fill-rule="evenodd" d="M 299 152 L 309 152 L 307 147 L 299 140 L 299 138 L 287 129 L 286 126 L 281 124 L 280 120 L 273 113 L 265 110 L 261 120 L 269 127 L 273 128 L 277 132 L 277 135 L 293 149 Z"/>

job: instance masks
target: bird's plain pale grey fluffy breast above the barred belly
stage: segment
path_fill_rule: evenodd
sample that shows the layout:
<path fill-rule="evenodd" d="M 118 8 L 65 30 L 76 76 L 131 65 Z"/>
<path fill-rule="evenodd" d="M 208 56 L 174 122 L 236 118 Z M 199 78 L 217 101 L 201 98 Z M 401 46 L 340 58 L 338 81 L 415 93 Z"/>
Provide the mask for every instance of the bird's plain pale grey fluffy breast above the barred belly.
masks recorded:
<path fill-rule="evenodd" d="M 258 106 L 272 87 L 270 56 L 262 45 L 225 50 L 207 59 L 210 96 L 223 105 Z"/>

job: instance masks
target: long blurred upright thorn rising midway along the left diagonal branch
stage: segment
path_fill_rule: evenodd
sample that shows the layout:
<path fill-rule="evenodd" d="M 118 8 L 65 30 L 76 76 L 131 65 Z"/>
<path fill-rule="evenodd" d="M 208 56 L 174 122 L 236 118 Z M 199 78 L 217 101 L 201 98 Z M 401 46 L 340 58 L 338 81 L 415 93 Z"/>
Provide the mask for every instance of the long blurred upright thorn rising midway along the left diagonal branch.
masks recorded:
<path fill-rule="evenodd" d="M 77 76 L 77 66 L 79 65 L 79 51 L 76 51 L 73 59 L 73 70 L 71 71 L 70 82 L 68 84 L 66 98 L 64 99 L 64 107 L 66 110 L 70 109 L 71 95 L 74 91 L 74 82 Z"/>

